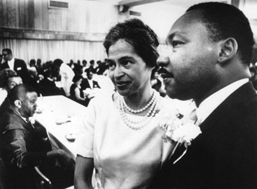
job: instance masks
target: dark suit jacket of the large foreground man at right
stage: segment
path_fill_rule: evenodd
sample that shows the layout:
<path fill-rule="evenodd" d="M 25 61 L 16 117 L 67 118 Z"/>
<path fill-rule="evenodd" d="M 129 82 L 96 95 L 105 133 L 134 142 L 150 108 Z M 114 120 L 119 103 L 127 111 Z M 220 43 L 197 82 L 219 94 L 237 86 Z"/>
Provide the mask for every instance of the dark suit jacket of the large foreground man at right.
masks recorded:
<path fill-rule="evenodd" d="M 175 164 L 171 158 L 152 188 L 257 188 L 257 95 L 251 83 L 223 101 L 200 129 L 186 155 Z"/>

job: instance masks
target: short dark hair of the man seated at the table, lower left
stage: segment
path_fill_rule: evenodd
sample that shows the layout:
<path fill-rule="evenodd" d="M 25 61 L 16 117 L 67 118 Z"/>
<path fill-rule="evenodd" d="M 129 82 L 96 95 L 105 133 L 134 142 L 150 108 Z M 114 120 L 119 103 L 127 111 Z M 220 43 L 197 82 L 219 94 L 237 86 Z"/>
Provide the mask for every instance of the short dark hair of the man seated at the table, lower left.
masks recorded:
<path fill-rule="evenodd" d="M 35 89 L 31 86 L 28 86 L 26 84 L 20 84 L 16 85 L 14 88 L 10 90 L 10 93 L 8 94 L 8 98 L 10 99 L 11 103 L 14 103 L 15 100 L 19 99 L 21 100 L 26 96 L 27 93 L 35 92 Z"/>

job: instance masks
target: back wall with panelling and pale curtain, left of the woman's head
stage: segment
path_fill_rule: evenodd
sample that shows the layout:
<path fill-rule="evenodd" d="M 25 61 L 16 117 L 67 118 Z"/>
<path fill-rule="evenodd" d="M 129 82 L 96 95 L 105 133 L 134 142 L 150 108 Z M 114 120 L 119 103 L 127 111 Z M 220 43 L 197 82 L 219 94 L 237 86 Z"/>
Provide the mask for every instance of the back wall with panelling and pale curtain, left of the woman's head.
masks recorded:
<path fill-rule="evenodd" d="M 119 19 L 118 8 L 66 1 L 69 8 L 64 10 L 48 8 L 47 0 L 0 0 L 0 49 L 11 48 L 15 57 L 26 62 L 32 58 L 103 60 L 102 41 Z"/>

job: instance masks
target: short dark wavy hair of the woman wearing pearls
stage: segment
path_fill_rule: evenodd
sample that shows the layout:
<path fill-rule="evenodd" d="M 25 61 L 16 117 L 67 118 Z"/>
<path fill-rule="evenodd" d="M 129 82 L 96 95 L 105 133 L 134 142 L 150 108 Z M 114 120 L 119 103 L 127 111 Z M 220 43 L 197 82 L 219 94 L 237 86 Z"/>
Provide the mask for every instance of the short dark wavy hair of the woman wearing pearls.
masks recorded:
<path fill-rule="evenodd" d="M 114 45 L 119 39 L 124 39 L 127 43 L 131 44 L 147 66 L 157 66 L 156 60 L 159 57 L 157 52 L 157 47 L 159 46 L 158 37 L 140 19 L 125 20 L 125 22 L 118 23 L 109 30 L 103 43 L 107 55 L 109 47 Z"/>

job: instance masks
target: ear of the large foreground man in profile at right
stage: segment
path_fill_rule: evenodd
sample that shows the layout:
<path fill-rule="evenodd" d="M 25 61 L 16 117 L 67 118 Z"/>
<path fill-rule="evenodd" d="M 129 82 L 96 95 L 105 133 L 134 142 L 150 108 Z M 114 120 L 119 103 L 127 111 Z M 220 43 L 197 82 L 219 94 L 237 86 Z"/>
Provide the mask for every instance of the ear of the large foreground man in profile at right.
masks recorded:
<path fill-rule="evenodd" d="M 219 54 L 217 62 L 219 64 L 226 64 L 237 52 L 238 45 L 233 37 L 222 40 L 219 44 Z"/>

